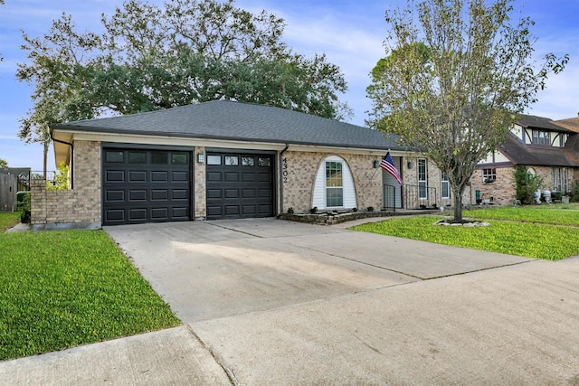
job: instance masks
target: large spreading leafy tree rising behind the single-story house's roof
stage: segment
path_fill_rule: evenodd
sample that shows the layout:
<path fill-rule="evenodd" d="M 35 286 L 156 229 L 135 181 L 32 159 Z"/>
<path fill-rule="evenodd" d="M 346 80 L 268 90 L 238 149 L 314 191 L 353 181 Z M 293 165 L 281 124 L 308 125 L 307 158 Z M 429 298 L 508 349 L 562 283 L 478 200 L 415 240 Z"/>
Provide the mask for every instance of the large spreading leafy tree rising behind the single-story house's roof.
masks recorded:
<path fill-rule="evenodd" d="M 70 15 L 42 38 L 24 35 L 29 61 L 16 78 L 35 86 L 20 137 L 50 143 L 47 125 L 215 99 L 346 118 L 346 91 L 325 55 L 308 59 L 281 37 L 283 19 L 252 14 L 234 0 L 129 0 L 101 18 L 104 33 L 77 33 Z"/>

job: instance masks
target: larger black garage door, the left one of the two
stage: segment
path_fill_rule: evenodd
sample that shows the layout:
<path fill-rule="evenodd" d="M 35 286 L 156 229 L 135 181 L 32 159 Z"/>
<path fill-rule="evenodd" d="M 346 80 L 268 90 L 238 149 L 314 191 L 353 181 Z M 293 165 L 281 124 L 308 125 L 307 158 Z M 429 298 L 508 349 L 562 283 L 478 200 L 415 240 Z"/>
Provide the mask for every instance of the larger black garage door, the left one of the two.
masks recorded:
<path fill-rule="evenodd" d="M 191 152 L 103 148 L 103 225 L 191 219 Z"/>

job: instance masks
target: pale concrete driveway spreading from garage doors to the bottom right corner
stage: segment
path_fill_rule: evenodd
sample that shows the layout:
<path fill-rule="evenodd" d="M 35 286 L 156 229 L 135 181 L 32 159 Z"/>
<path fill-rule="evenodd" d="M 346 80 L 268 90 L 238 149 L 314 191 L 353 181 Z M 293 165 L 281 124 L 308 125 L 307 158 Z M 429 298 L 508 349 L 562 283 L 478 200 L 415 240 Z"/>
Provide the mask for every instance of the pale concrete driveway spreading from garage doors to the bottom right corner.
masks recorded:
<path fill-rule="evenodd" d="M 289 221 L 106 229 L 234 384 L 579 385 L 579 259 Z"/>

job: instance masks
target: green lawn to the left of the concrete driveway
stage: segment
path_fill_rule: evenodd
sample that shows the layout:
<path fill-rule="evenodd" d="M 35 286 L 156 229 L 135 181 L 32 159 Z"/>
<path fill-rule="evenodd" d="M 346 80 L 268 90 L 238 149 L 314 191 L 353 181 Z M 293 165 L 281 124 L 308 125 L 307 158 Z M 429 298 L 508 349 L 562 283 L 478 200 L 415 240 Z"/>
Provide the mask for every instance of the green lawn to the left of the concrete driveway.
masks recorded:
<path fill-rule="evenodd" d="M 0 234 L 0 360 L 179 325 L 104 231 Z"/>

